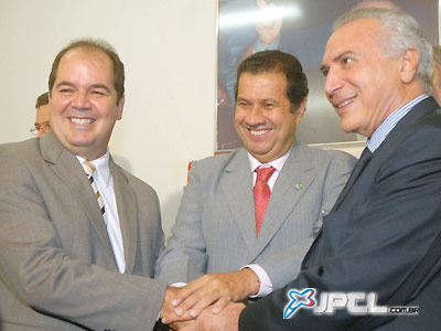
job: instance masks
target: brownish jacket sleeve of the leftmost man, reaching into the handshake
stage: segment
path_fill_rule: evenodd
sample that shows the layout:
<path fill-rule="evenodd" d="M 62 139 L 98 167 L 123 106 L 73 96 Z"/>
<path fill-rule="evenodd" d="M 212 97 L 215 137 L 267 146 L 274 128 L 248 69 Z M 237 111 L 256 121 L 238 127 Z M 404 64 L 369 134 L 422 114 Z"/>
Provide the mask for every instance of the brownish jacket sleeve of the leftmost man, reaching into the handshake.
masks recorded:
<path fill-rule="evenodd" d="M 67 255 L 46 209 L 50 202 L 41 193 L 44 188 L 35 181 L 47 173 L 31 170 L 28 161 L 14 149 L 0 147 L 1 286 L 23 306 L 72 324 L 93 330 L 153 328 L 165 285 Z M 85 235 L 73 233 L 72 238 Z"/>

